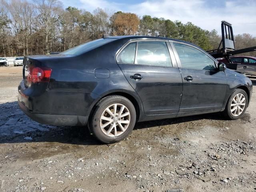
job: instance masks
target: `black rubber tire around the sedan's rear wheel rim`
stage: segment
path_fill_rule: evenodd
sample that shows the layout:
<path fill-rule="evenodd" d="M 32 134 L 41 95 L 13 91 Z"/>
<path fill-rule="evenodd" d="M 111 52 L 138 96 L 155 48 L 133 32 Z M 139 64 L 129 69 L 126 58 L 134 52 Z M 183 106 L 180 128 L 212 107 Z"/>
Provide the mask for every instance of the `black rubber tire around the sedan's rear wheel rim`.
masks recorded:
<path fill-rule="evenodd" d="M 119 136 L 108 136 L 100 128 L 100 118 L 102 116 L 102 113 L 106 108 L 108 108 L 108 106 L 112 104 L 122 104 L 130 112 L 130 123 L 126 128 L 126 130 Z M 132 132 L 135 123 L 136 123 L 136 110 L 132 102 L 128 100 L 126 97 L 119 96 L 119 95 L 112 95 L 112 96 L 106 96 L 102 98 L 96 104 L 96 107 L 94 108 L 94 111 L 90 116 L 89 128 L 92 134 L 98 140 L 100 140 L 103 143 L 110 144 L 110 143 L 120 142 L 121 140 L 126 138 L 130 134 L 130 132 Z"/>

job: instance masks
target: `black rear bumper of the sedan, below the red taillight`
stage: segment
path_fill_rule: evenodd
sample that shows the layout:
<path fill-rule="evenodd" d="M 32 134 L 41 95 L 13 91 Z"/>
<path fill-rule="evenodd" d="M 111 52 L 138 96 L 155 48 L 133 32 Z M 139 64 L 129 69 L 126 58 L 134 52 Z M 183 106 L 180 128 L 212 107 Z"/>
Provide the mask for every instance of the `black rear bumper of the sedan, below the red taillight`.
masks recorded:
<path fill-rule="evenodd" d="M 85 126 L 98 95 L 91 92 L 49 91 L 38 86 L 18 86 L 21 110 L 36 122 L 56 126 Z M 42 88 L 42 89 L 41 89 Z"/>

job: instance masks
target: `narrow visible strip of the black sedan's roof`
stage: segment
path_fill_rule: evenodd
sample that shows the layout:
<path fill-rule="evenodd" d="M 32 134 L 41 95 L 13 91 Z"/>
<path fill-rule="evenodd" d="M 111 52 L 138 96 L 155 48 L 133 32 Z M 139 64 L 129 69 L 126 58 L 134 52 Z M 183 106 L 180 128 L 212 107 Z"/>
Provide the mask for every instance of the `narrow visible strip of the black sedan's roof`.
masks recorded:
<path fill-rule="evenodd" d="M 106 38 L 114 38 L 114 39 L 127 39 L 127 40 L 130 40 L 130 39 L 159 39 L 159 40 L 172 40 L 172 41 L 177 41 L 177 42 L 181 42 L 181 43 L 186 43 L 186 44 L 190 44 L 192 46 L 196 46 L 198 47 L 197 45 L 195 44 L 192 44 L 190 42 L 186 42 L 186 41 L 182 41 L 182 40 L 178 40 L 178 39 L 172 39 L 172 38 L 166 38 L 166 37 L 155 37 L 155 36 L 140 36 L 140 35 L 127 35 L 127 36 L 108 36 Z M 200 48 L 200 47 L 198 47 Z M 202 48 L 200 48 L 202 49 Z"/>

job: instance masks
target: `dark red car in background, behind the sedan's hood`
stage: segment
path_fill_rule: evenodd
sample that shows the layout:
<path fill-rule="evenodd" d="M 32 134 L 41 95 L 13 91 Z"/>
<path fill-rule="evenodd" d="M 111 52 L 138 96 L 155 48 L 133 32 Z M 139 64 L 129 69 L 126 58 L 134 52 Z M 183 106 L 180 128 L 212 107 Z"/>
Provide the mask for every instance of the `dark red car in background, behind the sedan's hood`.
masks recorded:
<path fill-rule="evenodd" d="M 231 62 L 227 59 L 218 58 L 218 62 L 225 63 L 227 68 L 242 72 L 249 76 L 256 76 L 256 57 L 233 56 Z"/>

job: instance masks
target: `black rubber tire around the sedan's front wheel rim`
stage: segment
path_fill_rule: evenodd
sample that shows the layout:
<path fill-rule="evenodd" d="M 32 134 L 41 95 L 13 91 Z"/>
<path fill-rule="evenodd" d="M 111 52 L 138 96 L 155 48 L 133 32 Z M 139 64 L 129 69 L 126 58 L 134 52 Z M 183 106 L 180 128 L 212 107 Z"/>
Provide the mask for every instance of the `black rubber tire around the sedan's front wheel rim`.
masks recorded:
<path fill-rule="evenodd" d="M 236 96 L 237 94 L 243 94 L 244 97 L 245 97 L 245 100 L 246 100 L 246 104 L 245 104 L 245 107 L 244 107 L 244 110 L 243 112 L 239 115 L 239 116 L 234 116 L 231 112 L 231 103 L 232 103 L 232 99 L 234 98 L 234 96 Z M 226 117 L 230 120 L 236 120 L 236 119 L 239 119 L 243 116 L 244 112 L 246 111 L 246 108 L 248 106 L 248 96 L 247 96 L 247 93 L 242 90 L 242 89 L 235 89 L 234 92 L 231 94 L 230 98 L 228 99 L 228 102 L 226 104 L 226 108 L 224 110 L 224 114 L 226 115 Z"/>

